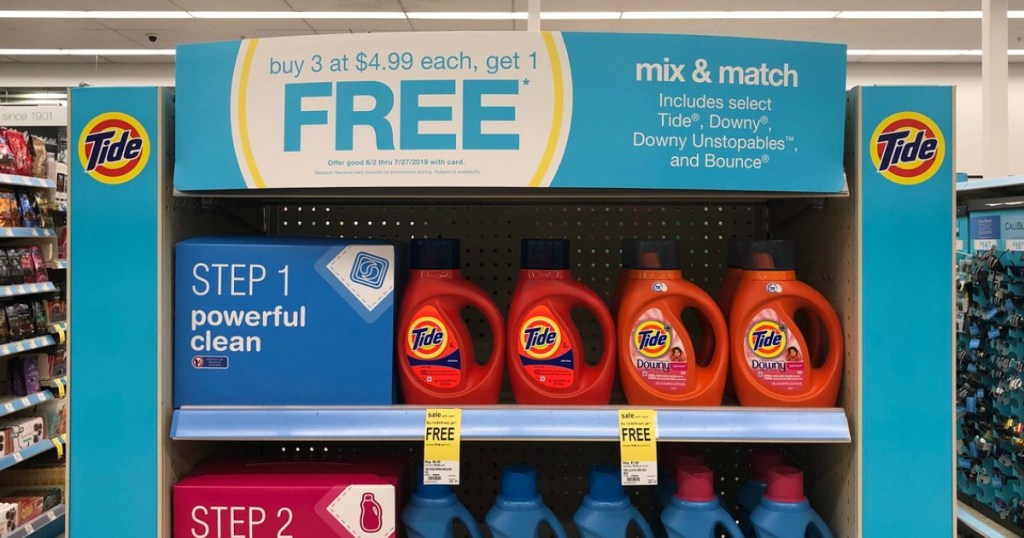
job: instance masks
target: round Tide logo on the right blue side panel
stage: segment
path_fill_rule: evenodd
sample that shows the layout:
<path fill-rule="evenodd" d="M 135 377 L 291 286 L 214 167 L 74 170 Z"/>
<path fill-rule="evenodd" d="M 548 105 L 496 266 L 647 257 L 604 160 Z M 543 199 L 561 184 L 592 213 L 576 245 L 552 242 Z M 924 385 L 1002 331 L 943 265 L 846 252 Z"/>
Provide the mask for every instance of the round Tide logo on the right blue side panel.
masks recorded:
<path fill-rule="evenodd" d="M 883 177 L 894 183 L 918 184 L 942 166 L 946 140 L 931 118 L 904 111 L 879 123 L 868 151 Z"/>

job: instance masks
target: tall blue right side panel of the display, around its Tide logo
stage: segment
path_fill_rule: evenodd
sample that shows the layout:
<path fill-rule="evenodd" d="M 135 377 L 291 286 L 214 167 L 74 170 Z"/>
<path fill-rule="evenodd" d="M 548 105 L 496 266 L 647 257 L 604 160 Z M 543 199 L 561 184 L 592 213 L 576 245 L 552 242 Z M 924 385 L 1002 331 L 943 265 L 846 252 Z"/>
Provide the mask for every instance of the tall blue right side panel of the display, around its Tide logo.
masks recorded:
<path fill-rule="evenodd" d="M 863 536 L 953 536 L 953 90 L 861 92 Z M 904 111 L 930 118 L 945 146 L 934 175 L 911 185 L 868 153 L 876 128 Z"/>

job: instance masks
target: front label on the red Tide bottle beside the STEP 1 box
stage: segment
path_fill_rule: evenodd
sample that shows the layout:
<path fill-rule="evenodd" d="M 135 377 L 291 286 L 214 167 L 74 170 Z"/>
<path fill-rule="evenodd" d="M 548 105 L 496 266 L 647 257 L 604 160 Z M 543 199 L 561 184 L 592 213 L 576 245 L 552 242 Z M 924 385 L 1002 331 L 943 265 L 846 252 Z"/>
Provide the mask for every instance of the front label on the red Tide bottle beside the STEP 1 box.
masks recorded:
<path fill-rule="evenodd" d="M 454 388 L 462 381 L 459 340 L 437 308 L 422 306 L 406 333 L 406 360 L 413 373 L 436 388 Z"/>

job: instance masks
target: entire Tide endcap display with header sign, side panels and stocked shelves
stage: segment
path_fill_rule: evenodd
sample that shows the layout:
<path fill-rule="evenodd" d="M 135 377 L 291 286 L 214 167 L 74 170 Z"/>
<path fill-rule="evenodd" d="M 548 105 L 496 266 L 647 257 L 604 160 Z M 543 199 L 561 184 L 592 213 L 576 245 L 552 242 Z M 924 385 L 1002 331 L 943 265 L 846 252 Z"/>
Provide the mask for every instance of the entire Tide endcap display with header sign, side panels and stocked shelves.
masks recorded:
<path fill-rule="evenodd" d="M 799 527 L 775 514 L 807 519 L 808 502 L 842 536 L 952 534 L 949 372 L 920 368 L 949 342 L 889 337 L 907 294 L 922 333 L 951 319 L 934 292 L 949 281 L 951 88 L 847 93 L 843 46 L 708 36 L 329 35 L 175 58 L 173 90 L 72 90 L 70 304 L 88 329 L 76 348 L 104 358 L 73 365 L 76 535 L 213 538 L 232 525 L 217 506 L 252 506 L 230 532 L 275 536 L 289 508 L 282 535 L 475 522 L 603 538 L 646 521 L 686 536 L 662 515 L 731 512 L 756 445 L 784 451 L 811 497 L 768 480 L 752 516 L 765 532 Z M 114 135 L 133 151 L 86 143 Z M 802 254 L 752 248 L 720 307 L 733 239 Z M 886 263 L 903 258 L 921 263 L 896 290 Z M 749 330 L 766 320 L 777 331 Z M 749 360 L 751 332 L 800 360 Z M 779 389 L 791 380 L 761 363 L 803 373 Z M 723 402 L 730 371 L 740 405 Z M 929 447 L 912 458 L 892 445 L 908 414 Z M 669 455 L 692 443 L 710 490 Z M 657 445 L 663 468 L 691 469 L 668 499 Z M 892 458 L 935 494 L 896 502 Z M 132 491 L 76 488 L 111 460 Z M 450 487 L 402 495 L 418 468 Z"/>

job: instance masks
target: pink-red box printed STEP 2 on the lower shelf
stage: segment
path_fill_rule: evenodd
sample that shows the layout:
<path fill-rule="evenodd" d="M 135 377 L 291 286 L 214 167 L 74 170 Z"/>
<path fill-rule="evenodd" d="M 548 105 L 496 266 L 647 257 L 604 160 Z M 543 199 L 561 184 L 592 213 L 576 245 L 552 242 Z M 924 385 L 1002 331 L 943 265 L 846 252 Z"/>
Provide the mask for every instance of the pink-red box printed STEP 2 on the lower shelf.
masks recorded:
<path fill-rule="evenodd" d="M 391 538 L 396 463 L 212 463 L 174 486 L 175 538 Z"/>

